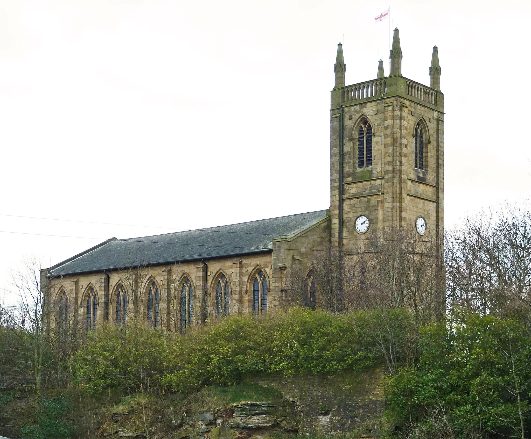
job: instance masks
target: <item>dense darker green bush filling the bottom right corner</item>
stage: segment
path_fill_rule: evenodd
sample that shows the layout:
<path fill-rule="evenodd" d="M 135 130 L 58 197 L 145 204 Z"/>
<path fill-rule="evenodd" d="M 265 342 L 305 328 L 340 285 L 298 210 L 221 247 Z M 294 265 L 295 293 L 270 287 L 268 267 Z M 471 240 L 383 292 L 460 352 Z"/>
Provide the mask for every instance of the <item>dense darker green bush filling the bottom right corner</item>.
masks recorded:
<path fill-rule="evenodd" d="M 418 366 L 386 379 L 388 416 L 407 434 L 524 437 L 531 426 L 531 339 L 516 321 L 469 315 L 420 332 Z M 428 434 L 429 433 L 429 434 Z"/>

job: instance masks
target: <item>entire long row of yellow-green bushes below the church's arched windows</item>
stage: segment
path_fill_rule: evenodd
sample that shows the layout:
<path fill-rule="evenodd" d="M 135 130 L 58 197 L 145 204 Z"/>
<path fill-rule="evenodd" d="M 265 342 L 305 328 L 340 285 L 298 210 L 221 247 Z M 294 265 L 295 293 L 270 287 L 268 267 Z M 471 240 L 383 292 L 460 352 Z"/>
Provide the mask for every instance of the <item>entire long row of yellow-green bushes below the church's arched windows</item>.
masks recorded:
<path fill-rule="evenodd" d="M 263 318 L 232 316 L 186 336 L 107 327 L 89 335 L 73 358 L 88 391 L 234 385 L 249 373 L 284 375 L 355 370 L 374 363 L 359 346 L 353 315 L 293 309 Z"/>

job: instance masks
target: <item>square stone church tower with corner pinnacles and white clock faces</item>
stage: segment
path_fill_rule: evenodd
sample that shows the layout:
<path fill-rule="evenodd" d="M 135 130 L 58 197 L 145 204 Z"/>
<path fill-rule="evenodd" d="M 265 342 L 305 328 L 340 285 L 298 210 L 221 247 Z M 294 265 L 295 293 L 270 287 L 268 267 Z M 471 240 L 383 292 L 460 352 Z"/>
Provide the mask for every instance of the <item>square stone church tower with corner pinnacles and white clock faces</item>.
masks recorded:
<path fill-rule="evenodd" d="M 345 86 L 341 43 L 337 49 L 330 106 L 330 227 L 332 244 L 347 254 L 363 250 L 365 232 L 391 226 L 442 240 L 444 96 L 437 47 L 430 86 L 402 76 L 398 29 L 389 57 L 389 76 L 380 59 L 374 80 Z"/>

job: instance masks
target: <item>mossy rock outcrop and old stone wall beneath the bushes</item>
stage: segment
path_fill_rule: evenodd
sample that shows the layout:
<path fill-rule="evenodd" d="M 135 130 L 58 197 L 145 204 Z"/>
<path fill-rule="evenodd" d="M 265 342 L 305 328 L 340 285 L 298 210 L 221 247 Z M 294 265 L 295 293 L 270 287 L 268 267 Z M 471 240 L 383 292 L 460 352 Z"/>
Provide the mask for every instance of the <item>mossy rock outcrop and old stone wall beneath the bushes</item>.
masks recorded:
<path fill-rule="evenodd" d="M 153 439 L 263 439 L 273 433 L 379 437 L 384 408 L 382 372 L 334 376 L 252 376 L 252 385 L 272 400 L 232 404 L 209 391 L 184 400 L 132 400 L 115 406 L 99 436 Z M 259 396 L 259 398 L 262 398 Z M 175 401 L 175 402 L 174 402 Z M 145 419 L 148 419 L 146 424 Z"/>

